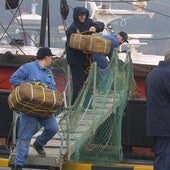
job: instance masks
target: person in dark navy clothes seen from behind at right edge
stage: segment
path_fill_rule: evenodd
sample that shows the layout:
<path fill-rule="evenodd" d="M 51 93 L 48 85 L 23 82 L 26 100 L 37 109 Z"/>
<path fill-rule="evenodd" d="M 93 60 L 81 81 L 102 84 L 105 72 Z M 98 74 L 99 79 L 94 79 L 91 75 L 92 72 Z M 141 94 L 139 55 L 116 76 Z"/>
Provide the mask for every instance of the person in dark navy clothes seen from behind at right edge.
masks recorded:
<path fill-rule="evenodd" d="M 155 138 L 154 170 L 170 170 L 170 50 L 146 79 L 147 135 Z"/>

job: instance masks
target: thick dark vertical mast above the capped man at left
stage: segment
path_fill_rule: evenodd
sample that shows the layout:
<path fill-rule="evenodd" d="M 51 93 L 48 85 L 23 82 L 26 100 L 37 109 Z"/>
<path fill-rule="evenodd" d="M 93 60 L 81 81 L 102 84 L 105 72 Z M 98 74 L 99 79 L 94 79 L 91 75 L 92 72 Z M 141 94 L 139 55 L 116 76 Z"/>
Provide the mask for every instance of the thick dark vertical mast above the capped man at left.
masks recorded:
<path fill-rule="evenodd" d="M 42 18 L 41 18 L 41 30 L 40 30 L 40 46 L 41 47 L 45 46 L 48 2 L 49 2 L 49 0 L 43 0 L 43 4 L 42 4 Z"/>

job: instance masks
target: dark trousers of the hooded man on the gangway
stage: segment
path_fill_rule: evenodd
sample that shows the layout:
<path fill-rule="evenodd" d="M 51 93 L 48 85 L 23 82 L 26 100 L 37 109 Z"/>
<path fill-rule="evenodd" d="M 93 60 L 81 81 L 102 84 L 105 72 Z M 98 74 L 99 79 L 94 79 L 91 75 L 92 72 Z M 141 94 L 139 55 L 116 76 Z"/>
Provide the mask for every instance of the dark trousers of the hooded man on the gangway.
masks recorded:
<path fill-rule="evenodd" d="M 88 76 L 89 65 L 70 65 L 73 83 L 73 94 L 71 104 L 74 104 L 84 82 Z"/>

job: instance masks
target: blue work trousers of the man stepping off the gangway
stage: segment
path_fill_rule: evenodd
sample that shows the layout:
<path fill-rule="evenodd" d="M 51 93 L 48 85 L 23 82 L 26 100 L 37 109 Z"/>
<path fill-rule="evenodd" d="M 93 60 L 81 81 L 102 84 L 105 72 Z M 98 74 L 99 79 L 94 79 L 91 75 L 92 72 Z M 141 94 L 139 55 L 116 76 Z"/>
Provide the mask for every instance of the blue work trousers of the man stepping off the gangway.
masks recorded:
<path fill-rule="evenodd" d="M 38 127 L 38 123 L 44 127 L 43 132 L 36 139 L 38 144 L 41 146 L 44 146 L 59 129 L 54 115 L 47 119 L 40 119 L 21 113 L 19 135 L 16 146 L 15 165 L 24 166 L 28 155 L 31 138 Z"/>

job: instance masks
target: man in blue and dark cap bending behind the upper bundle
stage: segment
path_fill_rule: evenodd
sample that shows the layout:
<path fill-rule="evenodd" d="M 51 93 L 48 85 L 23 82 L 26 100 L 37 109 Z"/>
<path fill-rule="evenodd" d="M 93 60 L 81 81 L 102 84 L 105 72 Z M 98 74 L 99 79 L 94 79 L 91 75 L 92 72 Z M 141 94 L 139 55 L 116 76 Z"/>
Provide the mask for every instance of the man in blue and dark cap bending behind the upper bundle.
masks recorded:
<path fill-rule="evenodd" d="M 109 34 L 103 35 L 103 38 L 109 39 L 111 41 L 111 49 L 110 53 L 108 54 L 109 59 L 111 59 L 114 48 L 119 47 L 124 42 L 128 42 L 128 35 L 126 32 L 120 31 L 117 34 Z M 94 53 L 93 54 L 93 61 L 97 63 L 98 67 L 101 70 L 104 70 L 108 67 L 109 61 L 106 58 L 105 54 Z"/>

